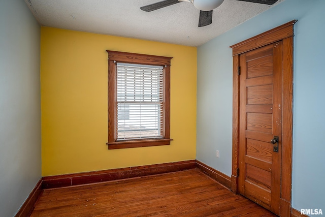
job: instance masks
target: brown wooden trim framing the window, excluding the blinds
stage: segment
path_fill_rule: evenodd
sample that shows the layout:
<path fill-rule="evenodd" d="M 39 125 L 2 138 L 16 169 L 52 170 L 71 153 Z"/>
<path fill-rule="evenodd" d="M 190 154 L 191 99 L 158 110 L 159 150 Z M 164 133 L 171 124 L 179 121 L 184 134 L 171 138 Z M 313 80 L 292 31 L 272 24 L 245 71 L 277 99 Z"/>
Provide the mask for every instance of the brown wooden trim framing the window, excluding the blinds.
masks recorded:
<path fill-rule="evenodd" d="M 170 65 L 172 57 L 106 50 L 108 53 L 108 149 L 170 145 Z M 163 138 L 117 141 L 116 138 L 116 63 L 164 67 Z"/>

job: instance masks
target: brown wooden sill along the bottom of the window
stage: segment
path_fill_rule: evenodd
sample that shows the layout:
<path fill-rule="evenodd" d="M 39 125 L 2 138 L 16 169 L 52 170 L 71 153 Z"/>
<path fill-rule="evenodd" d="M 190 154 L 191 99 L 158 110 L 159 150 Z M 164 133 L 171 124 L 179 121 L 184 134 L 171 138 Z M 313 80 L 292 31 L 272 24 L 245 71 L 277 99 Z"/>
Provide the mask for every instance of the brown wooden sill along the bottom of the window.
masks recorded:
<path fill-rule="evenodd" d="M 129 140 L 129 141 L 118 141 L 108 142 L 108 149 L 120 149 L 120 148 L 138 148 L 138 147 L 149 147 L 158 145 L 170 145 L 173 139 L 146 139 L 146 140 Z"/>

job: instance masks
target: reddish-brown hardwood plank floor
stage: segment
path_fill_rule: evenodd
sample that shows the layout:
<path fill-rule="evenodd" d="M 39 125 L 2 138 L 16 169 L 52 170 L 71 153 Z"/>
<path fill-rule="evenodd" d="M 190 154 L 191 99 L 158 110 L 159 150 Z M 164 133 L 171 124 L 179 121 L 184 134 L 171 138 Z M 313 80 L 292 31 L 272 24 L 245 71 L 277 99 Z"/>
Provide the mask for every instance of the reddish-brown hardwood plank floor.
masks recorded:
<path fill-rule="evenodd" d="M 36 216 L 276 216 L 198 169 L 46 189 Z"/>

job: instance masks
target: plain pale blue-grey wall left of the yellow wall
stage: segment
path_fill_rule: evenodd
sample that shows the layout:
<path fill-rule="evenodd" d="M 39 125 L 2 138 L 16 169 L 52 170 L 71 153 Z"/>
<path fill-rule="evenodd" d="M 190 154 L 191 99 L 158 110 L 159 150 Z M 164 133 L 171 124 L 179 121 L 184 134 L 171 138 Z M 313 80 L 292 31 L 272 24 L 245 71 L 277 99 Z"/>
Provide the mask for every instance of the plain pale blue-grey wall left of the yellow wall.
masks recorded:
<path fill-rule="evenodd" d="M 41 178 L 40 26 L 23 0 L 0 0 L 0 216 Z"/>

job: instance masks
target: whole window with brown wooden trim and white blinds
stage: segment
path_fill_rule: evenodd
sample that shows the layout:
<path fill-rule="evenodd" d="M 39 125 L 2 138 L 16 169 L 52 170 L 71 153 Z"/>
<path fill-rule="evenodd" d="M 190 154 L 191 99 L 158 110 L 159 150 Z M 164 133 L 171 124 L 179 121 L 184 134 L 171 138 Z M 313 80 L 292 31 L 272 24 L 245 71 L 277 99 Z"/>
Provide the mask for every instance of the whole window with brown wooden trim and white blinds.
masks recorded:
<path fill-rule="evenodd" d="M 108 52 L 108 148 L 169 145 L 170 60 Z"/>

